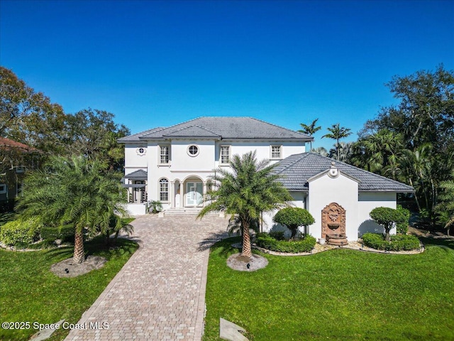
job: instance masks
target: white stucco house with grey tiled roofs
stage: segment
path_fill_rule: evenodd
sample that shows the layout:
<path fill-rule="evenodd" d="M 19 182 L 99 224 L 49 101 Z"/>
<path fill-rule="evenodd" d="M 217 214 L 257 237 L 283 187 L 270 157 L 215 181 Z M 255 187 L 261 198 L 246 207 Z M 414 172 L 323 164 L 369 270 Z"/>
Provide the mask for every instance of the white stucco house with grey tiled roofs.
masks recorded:
<path fill-rule="evenodd" d="M 348 240 L 378 229 L 369 212 L 396 207 L 397 193 L 412 192 L 402 183 L 305 153 L 312 137 L 252 117 L 200 117 L 170 127 L 157 127 L 118 141 L 125 144 L 124 186 L 128 210 L 145 214 L 145 202 L 159 200 L 165 212 L 196 212 L 204 205 L 216 168 L 229 168 L 234 154 L 256 151 L 258 160 L 277 163 L 275 171 L 316 223 L 316 238 L 338 233 Z M 329 220 L 329 221 L 328 221 Z M 264 215 L 264 230 L 279 228 L 272 213 Z"/>

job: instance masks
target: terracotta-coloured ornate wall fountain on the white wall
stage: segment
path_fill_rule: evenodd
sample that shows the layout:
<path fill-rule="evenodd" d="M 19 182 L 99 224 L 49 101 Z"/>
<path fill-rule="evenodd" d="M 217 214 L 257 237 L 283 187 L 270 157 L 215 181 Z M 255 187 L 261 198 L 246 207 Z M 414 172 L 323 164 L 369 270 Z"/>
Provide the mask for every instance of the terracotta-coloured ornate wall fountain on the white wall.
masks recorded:
<path fill-rule="evenodd" d="M 321 211 L 321 237 L 326 239 L 327 244 L 348 244 L 345 234 L 345 210 L 336 202 L 331 202 Z"/>

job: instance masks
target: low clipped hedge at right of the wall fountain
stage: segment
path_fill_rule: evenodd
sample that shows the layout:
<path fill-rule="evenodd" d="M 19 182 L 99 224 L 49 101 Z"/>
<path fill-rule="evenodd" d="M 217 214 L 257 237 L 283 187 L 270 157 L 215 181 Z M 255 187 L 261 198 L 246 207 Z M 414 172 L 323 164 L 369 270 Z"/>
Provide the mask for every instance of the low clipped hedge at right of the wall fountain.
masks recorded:
<path fill-rule="evenodd" d="M 419 249 L 419 239 L 406 234 L 393 235 L 391 241 L 387 242 L 382 234 L 365 233 L 362 235 L 362 242 L 366 247 L 377 250 L 409 251 Z"/>

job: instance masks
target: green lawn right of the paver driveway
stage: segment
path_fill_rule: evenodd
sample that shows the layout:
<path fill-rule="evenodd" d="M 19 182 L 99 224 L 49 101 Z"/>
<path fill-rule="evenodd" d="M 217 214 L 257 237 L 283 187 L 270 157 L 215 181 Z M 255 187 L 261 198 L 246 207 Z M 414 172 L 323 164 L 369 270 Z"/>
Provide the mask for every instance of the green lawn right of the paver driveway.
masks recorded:
<path fill-rule="evenodd" d="M 424 240 L 423 254 L 335 249 L 270 256 L 265 269 L 234 271 L 233 240 L 211 249 L 204 341 L 219 318 L 250 340 L 454 340 L 454 242 Z"/>

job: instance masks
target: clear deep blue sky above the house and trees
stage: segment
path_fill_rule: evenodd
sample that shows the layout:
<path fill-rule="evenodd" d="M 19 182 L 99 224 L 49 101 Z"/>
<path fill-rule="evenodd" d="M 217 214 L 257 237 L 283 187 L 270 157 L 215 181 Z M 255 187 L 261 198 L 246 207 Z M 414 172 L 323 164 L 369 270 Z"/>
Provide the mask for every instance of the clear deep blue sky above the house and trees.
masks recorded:
<path fill-rule="evenodd" d="M 201 116 L 353 141 L 394 75 L 454 70 L 454 1 L 0 1 L 0 63 L 74 113 L 137 133 Z"/>

